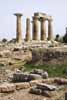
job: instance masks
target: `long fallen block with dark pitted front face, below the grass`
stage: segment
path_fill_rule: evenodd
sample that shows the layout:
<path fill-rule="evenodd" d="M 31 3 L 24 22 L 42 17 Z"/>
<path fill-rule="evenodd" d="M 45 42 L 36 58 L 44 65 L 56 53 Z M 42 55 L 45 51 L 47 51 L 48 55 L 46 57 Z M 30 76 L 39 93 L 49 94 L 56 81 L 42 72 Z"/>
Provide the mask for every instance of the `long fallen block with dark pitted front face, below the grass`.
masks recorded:
<path fill-rule="evenodd" d="M 29 82 L 31 80 L 41 79 L 40 75 L 28 73 L 14 73 L 12 81 L 14 82 Z"/>

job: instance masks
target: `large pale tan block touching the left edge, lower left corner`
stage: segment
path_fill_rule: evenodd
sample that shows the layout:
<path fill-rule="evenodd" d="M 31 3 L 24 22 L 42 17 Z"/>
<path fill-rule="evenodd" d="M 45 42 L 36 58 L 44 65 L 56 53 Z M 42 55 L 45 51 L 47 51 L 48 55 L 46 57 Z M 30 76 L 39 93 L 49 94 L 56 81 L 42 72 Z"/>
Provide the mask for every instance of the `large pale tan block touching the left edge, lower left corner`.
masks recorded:
<path fill-rule="evenodd" d="M 14 91 L 15 91 L 14 84 L 5 83 L 5 84 L 0 85 L 0 92 L 2 93 L 9 93 L 9 92 L 14 92 Z"/>

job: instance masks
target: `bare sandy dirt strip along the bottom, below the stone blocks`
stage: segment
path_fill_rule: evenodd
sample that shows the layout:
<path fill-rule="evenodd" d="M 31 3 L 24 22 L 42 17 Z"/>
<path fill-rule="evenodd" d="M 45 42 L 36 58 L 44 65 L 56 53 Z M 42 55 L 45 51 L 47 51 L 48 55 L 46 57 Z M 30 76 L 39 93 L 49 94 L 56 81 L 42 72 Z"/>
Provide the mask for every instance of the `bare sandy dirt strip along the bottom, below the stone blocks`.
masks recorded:
<path fill-rule="evenodd" d="M 30 89 L 16 90 L 13 93 L 0 93 L 0 100 L 65 100 L 67 89 L 58 91 L 53 97 L 29 93 Z"/>

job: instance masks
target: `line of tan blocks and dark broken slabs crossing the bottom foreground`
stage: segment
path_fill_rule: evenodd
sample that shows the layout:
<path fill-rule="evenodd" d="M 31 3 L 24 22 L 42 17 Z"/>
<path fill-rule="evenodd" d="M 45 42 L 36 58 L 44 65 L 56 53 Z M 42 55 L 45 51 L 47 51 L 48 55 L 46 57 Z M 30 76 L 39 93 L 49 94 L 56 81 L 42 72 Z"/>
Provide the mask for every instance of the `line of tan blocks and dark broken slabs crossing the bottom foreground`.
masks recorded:
<path fill-rule="evenodd" d="M 56 96 L 58 90 L 64 88 L 64 85 L 67 85 L 67 83 L 63 83 L 61 86 L 56 85 L 58 79 L 59 78 L 38 79 L 38 80 L 32 80 L 30 82 L 18 82 L 18 83 L 4 82 L 0 84 L 0 93 L 12 93 L 15 92 L 16 90 L 29 89 L 29 93 L 43 95 L 46 97 L 52 97 L 52 96 Z M 63 80 L 64 82 L 67 82 L 67 79 L 63 79 Z M 50 81 L 52 83 L 54 82 L 55 85 L 53 84 L 50 85 L 51 84 Z"/>

